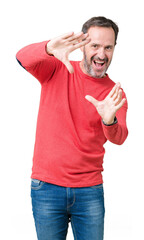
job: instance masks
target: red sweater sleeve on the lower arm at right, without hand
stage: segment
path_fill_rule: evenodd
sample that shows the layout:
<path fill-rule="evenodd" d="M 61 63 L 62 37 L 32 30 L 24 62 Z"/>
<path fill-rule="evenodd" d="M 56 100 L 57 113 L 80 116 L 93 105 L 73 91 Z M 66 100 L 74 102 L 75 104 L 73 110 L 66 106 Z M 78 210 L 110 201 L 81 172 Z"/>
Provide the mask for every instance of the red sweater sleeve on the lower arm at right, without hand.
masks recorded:
<path fill-rule="evenodd" d="M 123 97 L 126 98 L 123 92 Z M 107 126 L 102 123 L 104 135 L 110 142 L 121 145 L 124 143 L 128 136 L 128 129 L 126 125 L 126 115 L 127 115 L 128 104 L 127 100 L 124 105 L 117 111 L 116 118 L 117 122 L 113 125 Z"/>

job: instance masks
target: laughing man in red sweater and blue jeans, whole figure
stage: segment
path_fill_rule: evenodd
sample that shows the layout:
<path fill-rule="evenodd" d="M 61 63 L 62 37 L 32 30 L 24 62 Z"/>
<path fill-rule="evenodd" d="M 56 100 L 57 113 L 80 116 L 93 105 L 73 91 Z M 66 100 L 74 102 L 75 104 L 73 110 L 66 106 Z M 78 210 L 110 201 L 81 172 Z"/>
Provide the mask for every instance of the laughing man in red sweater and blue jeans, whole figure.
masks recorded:
<path fill-rule="evenodd" d="M 31 197 L 39 240 L 66 239 L 71 221 L 77 240 L 102 240 L 104 143 L 122 144 L 128 134 L 127 101 L 106 71 L 118 26 L 104 17 L 17 53 L 41 84 Z M 80 48 L 83 59 L 69 61 Z"/>

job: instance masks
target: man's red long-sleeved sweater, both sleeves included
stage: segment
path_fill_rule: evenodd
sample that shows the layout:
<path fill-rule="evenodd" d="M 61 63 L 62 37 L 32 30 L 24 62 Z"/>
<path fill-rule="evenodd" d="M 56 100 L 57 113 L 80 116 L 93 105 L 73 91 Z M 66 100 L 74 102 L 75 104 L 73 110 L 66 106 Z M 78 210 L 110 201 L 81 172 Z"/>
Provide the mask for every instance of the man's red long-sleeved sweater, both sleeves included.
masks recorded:
<path fill-rule="evenodd" d="M 127 102 L 116 113 L 118 122 L 104 125 L 85 96 L 103 100 L 115 83 L 108 75 L 96 79 L 84 74 L 78 61 L 71 61 L 70 74 L 46 53 L 46 44 L 29 45 L 16 56 L 41 84 L 31 177 L 65 187 L 101 184 L 104 143 L 122 144 L 128 134 Z"/>

